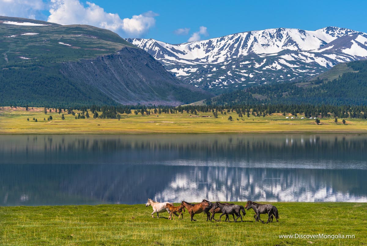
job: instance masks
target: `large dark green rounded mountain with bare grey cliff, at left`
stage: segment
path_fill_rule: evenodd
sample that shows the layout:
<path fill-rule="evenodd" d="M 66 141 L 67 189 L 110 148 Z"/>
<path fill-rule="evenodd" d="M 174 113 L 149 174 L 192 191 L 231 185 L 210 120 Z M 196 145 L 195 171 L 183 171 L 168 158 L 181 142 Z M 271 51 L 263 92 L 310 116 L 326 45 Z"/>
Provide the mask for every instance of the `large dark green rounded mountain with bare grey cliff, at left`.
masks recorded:
<path fill-rule="evenodd" d="M 179 105 L 208 96 L 93 26 L 0 17 L 0 55 L 0 105 Z"/>

